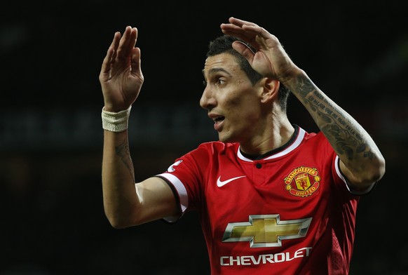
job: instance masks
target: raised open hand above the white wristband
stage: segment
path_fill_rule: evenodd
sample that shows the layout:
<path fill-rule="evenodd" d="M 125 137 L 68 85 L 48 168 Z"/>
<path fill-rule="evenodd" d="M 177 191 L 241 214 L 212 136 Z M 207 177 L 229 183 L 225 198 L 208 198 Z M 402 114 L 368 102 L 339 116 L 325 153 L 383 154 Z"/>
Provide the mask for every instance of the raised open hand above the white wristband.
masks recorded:
<path fill-rule="evenodd" d="M 107 111 L 128 109 L 140 93 L 144 76 L 140 66 L 140 48 L 135 47 L 136 41 L 135 27 L 126 27 L 123 36 L 116 32 L 102 62 L 99 80 L 104 109 Z"/>

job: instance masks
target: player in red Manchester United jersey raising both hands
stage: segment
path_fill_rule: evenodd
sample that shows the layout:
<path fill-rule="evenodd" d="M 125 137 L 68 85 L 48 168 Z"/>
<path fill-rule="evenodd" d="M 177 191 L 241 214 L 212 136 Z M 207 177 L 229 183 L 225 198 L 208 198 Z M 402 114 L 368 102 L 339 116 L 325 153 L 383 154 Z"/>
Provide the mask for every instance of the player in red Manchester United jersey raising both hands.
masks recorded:
<path fill-rule="evenodd" d="M 136 28 L 114 35 L 100 72 L 109 222 L 175 222 L 197 210 L 212 274 L 348 274 L 359 196 L 383 177 L 381 152 L 266 29 L 236 18 L 221 29 L 200 99 L 219 141 L 136 184 L 127 128 L 144 81 L 140 48 Z M 289 90 L 319 133 L 287 119 Z"/>

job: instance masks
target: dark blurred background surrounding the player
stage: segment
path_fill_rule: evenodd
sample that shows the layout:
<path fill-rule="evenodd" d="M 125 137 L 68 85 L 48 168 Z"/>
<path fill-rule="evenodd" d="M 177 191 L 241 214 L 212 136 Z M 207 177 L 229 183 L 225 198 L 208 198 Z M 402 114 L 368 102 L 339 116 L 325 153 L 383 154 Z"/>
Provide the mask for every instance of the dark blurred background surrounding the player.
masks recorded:
<path fill-rule="evenodd" d="M 11 1 L 0 9 L 0 274 L 210 274 L 195 213 L 113 229 L 102 208 L 98 75 L 114 32 L 139 29 L 130 116 L 137 180 L 217 136 L 198 101 L 229 16 L 276 34 L 374 137 L 383 180 L 358 210 L 351 275 L 408 274 L 408 20 L 404 1 Z M 289 116 L 317 130 L 294 97 Z"/>

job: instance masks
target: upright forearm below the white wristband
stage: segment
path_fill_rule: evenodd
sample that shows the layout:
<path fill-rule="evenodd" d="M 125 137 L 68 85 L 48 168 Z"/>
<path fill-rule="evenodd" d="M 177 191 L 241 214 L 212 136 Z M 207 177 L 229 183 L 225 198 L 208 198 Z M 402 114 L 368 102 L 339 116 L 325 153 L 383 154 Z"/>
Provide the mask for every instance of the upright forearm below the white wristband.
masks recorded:
<path fill-rule="evenodd" d="M 104 211 L 112 226 L 130 225 L 137 194 L 127 130 L 121 133 L 104 130 L 102 192 Z"/>

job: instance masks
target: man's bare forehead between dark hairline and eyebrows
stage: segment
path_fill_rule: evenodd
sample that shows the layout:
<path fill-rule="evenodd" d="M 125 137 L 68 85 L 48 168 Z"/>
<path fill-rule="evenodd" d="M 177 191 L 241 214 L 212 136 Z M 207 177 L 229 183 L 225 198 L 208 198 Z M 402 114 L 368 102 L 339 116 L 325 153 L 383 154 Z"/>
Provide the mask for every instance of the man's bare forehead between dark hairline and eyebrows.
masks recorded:
<path fill-rule="evenodd" d="M 228 53 L 210 56 L 205 60 L 203 69 L 204 76 L 215 74 L 217 72 L 225 72 L 227 74 L 242 73 L 238 65 L 238 60 L 235 56 Z"/>

